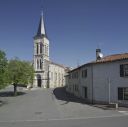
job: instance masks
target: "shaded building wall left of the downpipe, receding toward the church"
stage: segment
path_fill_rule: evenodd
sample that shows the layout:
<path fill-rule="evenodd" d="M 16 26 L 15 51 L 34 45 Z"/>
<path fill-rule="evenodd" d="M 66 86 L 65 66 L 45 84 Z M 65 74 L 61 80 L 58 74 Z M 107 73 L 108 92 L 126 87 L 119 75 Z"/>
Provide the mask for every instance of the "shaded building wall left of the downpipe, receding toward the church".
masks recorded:
<path fill-rule="evenodd" d="M 87 69 L 87 77 L 82 77 L 82 71 Z M 78 72 L 78 78 L 72 78 L 72 74 Z M 84 87 L 87 87 L 87 100 L 91 101 L 92 100 L 92 68 L 91 66 L 83 66 L 79 69 L 76 69 L 74 71 L 71 71 L 71 75 L 66 77 L 66 85 L 67 85 L 67 92 L 70 92 L 74 94 L 75 96 L 82 97 L 85 99 L 84 96 Z M 74 85 L 78 86 L 78 91 L 74 90 Z"/>

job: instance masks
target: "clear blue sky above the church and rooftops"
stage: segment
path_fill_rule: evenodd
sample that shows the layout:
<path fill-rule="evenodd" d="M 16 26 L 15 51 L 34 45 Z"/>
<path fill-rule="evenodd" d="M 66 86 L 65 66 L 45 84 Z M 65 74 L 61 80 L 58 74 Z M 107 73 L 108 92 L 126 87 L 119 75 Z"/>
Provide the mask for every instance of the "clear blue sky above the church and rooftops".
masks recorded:
<path fill-rule="evenodd" d="M 42 0 L 51 60 L 77 66 L 103 54 L 128 52 L 127 0 Z M 0 49 L 33 59 L 41 0 L 0 0 Z M 99 45 L 99 46 L 98 46 Z"/>

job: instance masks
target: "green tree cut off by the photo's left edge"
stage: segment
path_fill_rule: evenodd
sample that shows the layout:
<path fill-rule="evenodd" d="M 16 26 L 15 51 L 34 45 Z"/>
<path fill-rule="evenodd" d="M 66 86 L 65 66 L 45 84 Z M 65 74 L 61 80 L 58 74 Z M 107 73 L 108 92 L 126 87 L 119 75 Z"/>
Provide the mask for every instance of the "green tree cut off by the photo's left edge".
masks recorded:
<path fill-rule="evenodd" d="M 0 50 L 0 89 L 7 85 L 6 80 L 7 59 L 5 52 Z"/>

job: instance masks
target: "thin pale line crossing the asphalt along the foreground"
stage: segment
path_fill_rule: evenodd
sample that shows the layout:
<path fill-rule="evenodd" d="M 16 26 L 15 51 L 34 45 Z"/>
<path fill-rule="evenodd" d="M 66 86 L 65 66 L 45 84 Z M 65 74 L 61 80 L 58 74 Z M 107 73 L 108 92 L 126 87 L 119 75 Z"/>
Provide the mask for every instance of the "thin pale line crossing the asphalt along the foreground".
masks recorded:
<path fill-rule="evenodd" d="M 128 114 L 127 114 L 128 115 Z M 87 120 L 87 119 L 99 119 L 99 118 L 117 118 L 127 116 L 123 115 L 111 115 L 111 116 L 97 116 L 97 117 L 76 117 L 76 118 L 58 118 L 58 119 L 40 119 L 40 120 L 10 120 L 0 121 L 0 123 L 16 123 L 16 122 L 47 122 L 47 121 L 67 121 L 67 120 Z"/>

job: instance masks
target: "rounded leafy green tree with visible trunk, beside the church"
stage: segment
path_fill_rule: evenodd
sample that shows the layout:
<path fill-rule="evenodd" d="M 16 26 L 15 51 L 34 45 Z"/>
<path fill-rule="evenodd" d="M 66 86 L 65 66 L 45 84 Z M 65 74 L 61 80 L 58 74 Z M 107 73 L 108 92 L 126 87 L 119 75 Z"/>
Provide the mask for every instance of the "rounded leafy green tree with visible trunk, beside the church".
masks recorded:
<path fill-rule="evenodd" d="M 19 84 L 32 84 L 34 69 L 30 62 L 21 61 L 18 58 L 12 59 L 8 63 L 8 81 L 14 86 L 14 95 L 17 95 Z"/>

